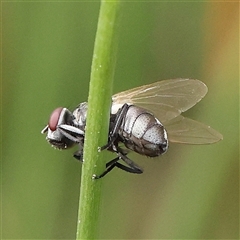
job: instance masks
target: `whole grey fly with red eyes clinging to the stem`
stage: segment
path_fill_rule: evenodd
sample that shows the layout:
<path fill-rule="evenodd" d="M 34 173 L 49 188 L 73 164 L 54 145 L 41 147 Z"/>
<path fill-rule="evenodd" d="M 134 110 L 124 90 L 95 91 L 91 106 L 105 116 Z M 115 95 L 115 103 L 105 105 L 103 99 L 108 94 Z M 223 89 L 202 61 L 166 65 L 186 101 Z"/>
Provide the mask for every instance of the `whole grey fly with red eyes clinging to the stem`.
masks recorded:
<path fill-rule="evenodd" d="M 207 90 L 207 86 L 199 80 L 179 78 L 113 95 L 108 143 L 100 150 L 115 152 L 117 157 L 94 178 L 105 176 L 114 167 L 130 173 L 142 173 L 143 170 L 128 158 L 130 150 L 157 157 L 167 152 L 169 143 L 211 144 L 223 139 L 211 127 L 181 115 L 199 102 Z M 57 108 L 42 133 L 47 132 L 46 139 L 55 148 L 67 149 L 78 144 L 79 150 L 74 157 L 82 161 L 86 118 L 86 102 L 73 112 Z"/>

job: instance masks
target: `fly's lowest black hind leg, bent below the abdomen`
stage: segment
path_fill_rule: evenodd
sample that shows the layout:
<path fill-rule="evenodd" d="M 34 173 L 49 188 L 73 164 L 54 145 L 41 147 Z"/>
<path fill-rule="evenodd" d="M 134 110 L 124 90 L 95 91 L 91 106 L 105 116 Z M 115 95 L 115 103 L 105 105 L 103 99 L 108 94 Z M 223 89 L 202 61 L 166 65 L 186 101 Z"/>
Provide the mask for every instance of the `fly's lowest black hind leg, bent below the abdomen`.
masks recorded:
<path fill-rule="evenodd" d="M 126 172 L 129 173 L 136 173 L 136 174 L 141 174 L 143 173 L 143 170 L 136 164 L 134 163 L 131 159 L 127 157 L 127 153 L 124 153 L 123 150 L 119 147 L 117 147 L 116 153 L 118 154 L 118 157 L 114 158 L 110 162 L 106 164 L 106 170 L 100 174 L 100 175 L 93 175 L 94 179 L 99 179 L 104 177 L 107 173 L 112 171 L 114 167 L 118 167 Z M 119 160 L 123 160 L 128 166 L 125 166 L 121 163 L 119 163 Z"/>

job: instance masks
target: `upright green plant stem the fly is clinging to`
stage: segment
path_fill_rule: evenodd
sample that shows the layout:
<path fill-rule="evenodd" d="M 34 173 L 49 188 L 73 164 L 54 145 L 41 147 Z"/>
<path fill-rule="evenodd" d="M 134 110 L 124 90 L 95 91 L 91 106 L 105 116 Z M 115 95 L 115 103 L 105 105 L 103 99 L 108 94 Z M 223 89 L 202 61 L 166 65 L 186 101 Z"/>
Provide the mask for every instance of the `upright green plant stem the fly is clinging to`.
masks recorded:
<path fill-rule="evenodd" d="M 87 125 L 84 143 L 82 178 L 77 224 L 77 239 L 95 239 L 98 226 L 102 179 L 93 174 L 105 169 L 98 147 L 107 142 L 115 67 L 117 18 L 120 1 L 101 2 L 88 97 Z"/>

